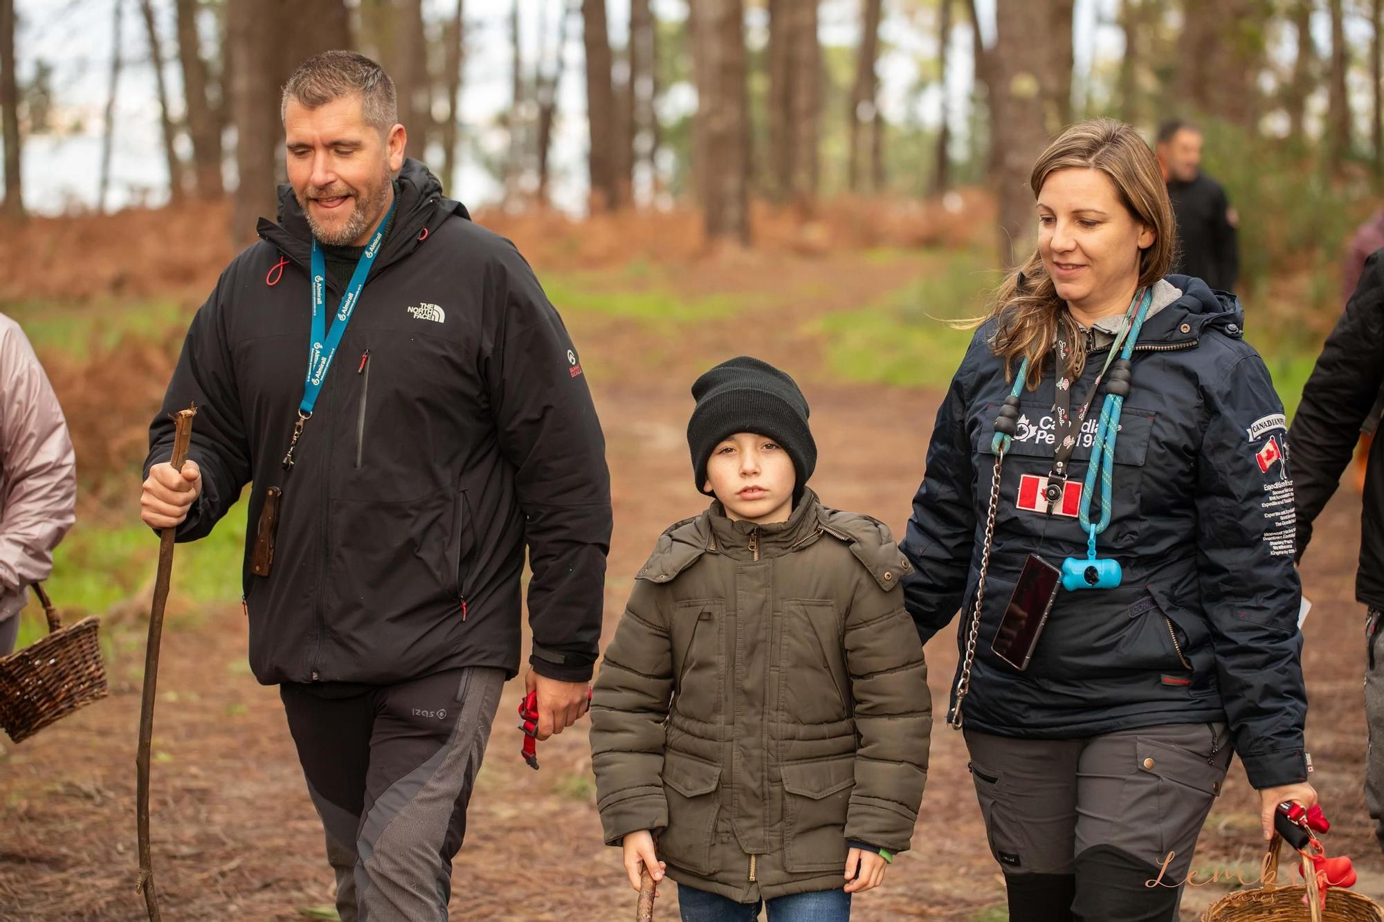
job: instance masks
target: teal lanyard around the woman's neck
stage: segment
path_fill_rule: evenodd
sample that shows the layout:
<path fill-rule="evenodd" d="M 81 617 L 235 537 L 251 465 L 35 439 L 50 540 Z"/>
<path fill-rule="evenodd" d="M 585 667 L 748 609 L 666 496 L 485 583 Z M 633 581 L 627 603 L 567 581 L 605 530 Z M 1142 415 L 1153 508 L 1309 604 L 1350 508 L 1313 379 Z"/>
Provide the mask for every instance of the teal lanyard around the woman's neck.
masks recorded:
<path fill-rule="evenodd" d="M 1151 303 L 1153 289 L 1146 288 L 1135 292 L 1133 300 L 1129 302 L 1129 307 L 1125 310 L 1124 324 L 1121 324 L 1120 332 L 1116 335 L 1116 341 L 1110 346 L 1110 353 L 1106 356 L 1106 364 L 1100 370 L 1100 375 L 1103 377 L 1110 370 L 1110 365 L 1116 364 L 1116 353 L 1120 354 L 1120 363 L 1117 364 L 1114 374 L 1111 374 L 1104 404 L 1100 407 L 1100 424 L 1096 428 L 1096 437 L 1091 446 L 1086 480 L 1081 489 L 1078 521 L 1081 522 L 1081 527 L 1091 536 L 1086 547 L 1092 557 L 1095 557 L 1096 552 L 1096 536 L 1110 526 L 1110 494 L 1114 485 L 1116 436 L 1120 432 L 1120 413 L 1124 410 L 1124 396 L 1129 392 L 1129 356 L 1133 354 L 1135 342 L 1139 339 L 1139 331 L 1143 328 L 1143 321 L 1149 316 L 1149 306 Z M 1017 406 L 1019 395 L 1023 393 L 1024 381 L 1027 381 L 1027 378 L 1028 359 L 1026 357 L 1019 365 L 1019 374 L 1014 375 L 1014 386 L 1010 389 L 1009 400 L 1006 403 Z M 1009 451 L 1010 446 L 1013 446 L 1013 442 L 1014 437 L 1012 435 L 996 429 L 994 439 L 991 439 L 991 451 L 994 451 L 998 457 L 1003 457 L 1003 454 Z M 1098 522 L 1092 522 L 1091 497 L 1095 493 L 1098 472 L 1100 475 L 1100 519 Z"/>

